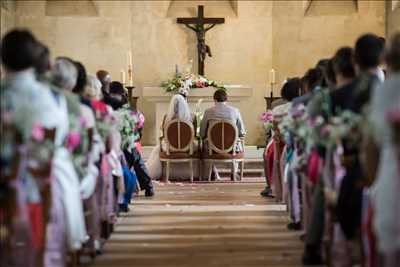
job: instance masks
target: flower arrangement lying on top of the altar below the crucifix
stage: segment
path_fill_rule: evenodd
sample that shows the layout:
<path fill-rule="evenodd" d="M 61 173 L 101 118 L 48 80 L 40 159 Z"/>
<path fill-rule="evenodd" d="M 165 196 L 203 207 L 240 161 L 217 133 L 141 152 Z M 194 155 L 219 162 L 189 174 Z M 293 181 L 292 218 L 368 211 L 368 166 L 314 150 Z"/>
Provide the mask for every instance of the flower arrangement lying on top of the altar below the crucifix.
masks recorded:
<path fill-rule="evenodd" d="M 225 87 L 219 85 L 217 82 L 195 74 L 188 74 L 185 76 L 178 74 L 174 78 L 161 83 L 161 87 L 163 87 L 166 92 L 178 92 L 180 88 L 194 89 L 215 87 L 218 89 L 225 89 Z"/>

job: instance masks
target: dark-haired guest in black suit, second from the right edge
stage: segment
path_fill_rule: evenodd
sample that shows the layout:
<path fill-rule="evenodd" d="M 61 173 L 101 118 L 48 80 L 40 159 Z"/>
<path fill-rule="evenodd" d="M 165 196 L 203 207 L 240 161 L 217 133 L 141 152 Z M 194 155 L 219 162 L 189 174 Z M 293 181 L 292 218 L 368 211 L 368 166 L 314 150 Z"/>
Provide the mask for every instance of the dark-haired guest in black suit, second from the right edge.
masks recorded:
<path fill-rule="evenodd" d="M 378 67 L 382 61 L 384 47 L 379 37 L 373 34 L 361 36 L 355 46 L 354 58 L 359 75 L 353 90 L 338 89 L 332 92 L 333 111 L 350 110 L 360 114 L 365 111 L 370 102 L 372 88 L 380 82 L 377 76 Z M 349 97 L 346 97 L 349 96 Z M 344 98 L 344 100 L 343 100 Z M 359 146 L 343 140 L 346 175 L 343 177 L 337 207 L 339 224 L 346 239 L 356 237 L 361 224 L 361 205 L 363 188 L 359 186 L 364 181 L 365 174 L 359 160 Z"/>

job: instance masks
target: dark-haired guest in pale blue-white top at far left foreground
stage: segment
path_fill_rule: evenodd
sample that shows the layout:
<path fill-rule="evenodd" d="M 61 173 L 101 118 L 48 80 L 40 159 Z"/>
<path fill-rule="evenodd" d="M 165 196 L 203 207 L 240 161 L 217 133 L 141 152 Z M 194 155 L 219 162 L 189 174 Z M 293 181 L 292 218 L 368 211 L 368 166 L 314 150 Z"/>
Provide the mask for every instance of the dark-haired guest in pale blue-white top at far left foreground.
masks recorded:
<path fill-rule="evenodd" d="M 35 78 L 34 65 L 39 57 L 35 37 L 26 30 L 8 32 L 1 40 L 1 114 L 12 114 L 12 124 L 22 136 L 22 143 L 30 141 L 35 124 L 54 128 L 46 116 L 51 96 Z M 42 94 L 45 99 L 42 98 Z M 45 101 L 42 101 L 45 100 Z M 2 131 L 3 133 L 3 131 Z M 3 136 L 2 136 L 3 138 Z M 3 139 L 2 139 L 3 141 Z M 0 263 L 6 266 L 35 266 L 37 251 L 31 233 L 30 205 L 40 205 L 39 187 L 33 177 L 25 171 L 16 178 L 18 213 L 16 223 L 11 225 L 13 234 L 10 244 L 11 255 L 1 251 Z M 21 234 L 17 234 L 21 233 Z M 3 241 L 3 240 L 2 240 Z M 3 245 L 3 243 L 2 243 Z"/>

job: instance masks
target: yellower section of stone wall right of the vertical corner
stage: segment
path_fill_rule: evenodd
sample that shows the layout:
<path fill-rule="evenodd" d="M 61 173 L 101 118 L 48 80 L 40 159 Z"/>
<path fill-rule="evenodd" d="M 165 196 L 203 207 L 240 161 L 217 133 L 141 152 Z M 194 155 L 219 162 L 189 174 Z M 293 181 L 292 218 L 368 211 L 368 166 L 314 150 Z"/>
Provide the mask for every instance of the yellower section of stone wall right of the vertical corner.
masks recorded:
<path fill-rule="evenodd" d="M 275 1 L 273 14 L 273 66 L 280 82 L 301 76 L 341 46 L 354 46 L 363 33 L 385 36 L 383 1 L 312 1 L 307 12 L 301 1 Z"/>

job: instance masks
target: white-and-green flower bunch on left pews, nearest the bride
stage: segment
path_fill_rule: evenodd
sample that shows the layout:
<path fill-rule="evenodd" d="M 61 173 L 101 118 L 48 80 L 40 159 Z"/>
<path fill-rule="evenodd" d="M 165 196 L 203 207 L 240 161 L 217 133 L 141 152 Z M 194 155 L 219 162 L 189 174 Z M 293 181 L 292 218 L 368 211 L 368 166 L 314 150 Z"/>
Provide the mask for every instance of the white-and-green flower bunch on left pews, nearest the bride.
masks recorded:
<path fill-rule="evenodd" d="M 117 130 L 121 134 L 122 149 L 132 151 L 136 147 L 136 142 L 139 140 L 140 116 L 137 116 L 135 111 L 132 111 L 129 105 L 124 105 L 114 113 L 117 119 Z M 144 123 L 144 117 L 143 123 Z"/>

